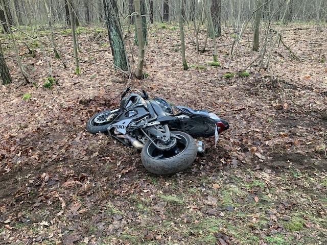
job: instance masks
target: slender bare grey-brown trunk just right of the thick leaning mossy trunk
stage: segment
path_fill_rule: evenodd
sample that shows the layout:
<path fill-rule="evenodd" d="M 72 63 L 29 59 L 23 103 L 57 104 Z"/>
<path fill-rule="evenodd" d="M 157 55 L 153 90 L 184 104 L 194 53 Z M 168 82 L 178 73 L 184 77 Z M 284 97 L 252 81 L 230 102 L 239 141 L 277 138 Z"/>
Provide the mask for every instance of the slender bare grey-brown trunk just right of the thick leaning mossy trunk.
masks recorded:
<path fill-rule="evenodd" d="M 144 40 L 143 40 L 143 28 L 142 28 L 142 18 L 141 18 L 141 4 L 139 0 L 134 0 L 135 8 L 135 23 L 137 30 L 137 40 L 138 40 L 138 60 L 137 67 L 135 71 L 135 76 L 137 79 L 143 77 L 143 65 L 144 65 Z"/>

